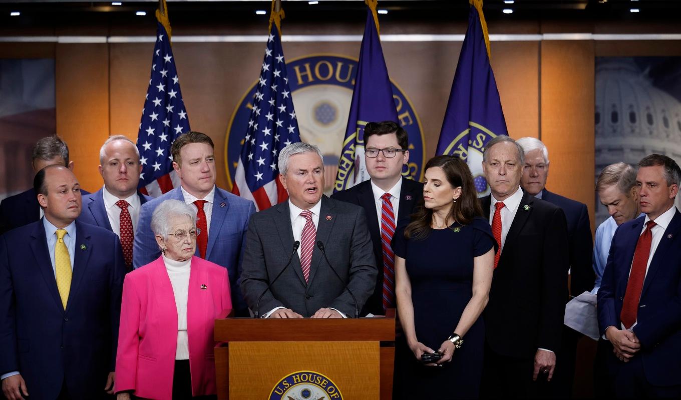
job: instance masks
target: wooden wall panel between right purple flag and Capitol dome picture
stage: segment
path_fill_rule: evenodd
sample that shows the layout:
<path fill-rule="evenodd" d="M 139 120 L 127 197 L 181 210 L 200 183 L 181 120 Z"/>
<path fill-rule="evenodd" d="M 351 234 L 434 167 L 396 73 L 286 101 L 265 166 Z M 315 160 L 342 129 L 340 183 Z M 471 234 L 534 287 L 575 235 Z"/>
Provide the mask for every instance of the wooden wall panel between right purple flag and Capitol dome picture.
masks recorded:
<path fill-rule="evenodd" d="M 541 42 L 541 140 L 547 187 L 589 207 L 594 224 L 594 42 Z"/>

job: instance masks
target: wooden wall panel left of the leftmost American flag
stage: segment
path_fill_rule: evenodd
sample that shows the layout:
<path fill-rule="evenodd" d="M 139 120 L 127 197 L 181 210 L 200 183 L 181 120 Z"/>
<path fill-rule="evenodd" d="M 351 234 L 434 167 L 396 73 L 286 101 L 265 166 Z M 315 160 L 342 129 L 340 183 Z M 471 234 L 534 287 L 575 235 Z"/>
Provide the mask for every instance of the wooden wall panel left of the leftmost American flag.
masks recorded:
<path fill-rule="evenodd" d="M 55 63 L 57 133 L 69 145 L 82 188 L 101 185 L 99 147 L 109 135 L 109 56 L 106 44 L 58 44 Z"/>

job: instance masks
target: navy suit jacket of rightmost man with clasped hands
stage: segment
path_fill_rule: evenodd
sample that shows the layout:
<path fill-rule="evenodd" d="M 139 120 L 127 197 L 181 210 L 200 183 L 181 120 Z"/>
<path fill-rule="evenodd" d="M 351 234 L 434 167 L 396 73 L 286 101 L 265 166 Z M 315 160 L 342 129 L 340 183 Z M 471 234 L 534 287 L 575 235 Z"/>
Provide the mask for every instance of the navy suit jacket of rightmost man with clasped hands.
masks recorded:
<path fill-rule="evenodd" d="M 605 329 L 621 328 L 620 313 L 627 291 L 629 271 L 645 216 L 624 222 L 615 231 L 598 291 L 598 318 L 601 335 Z M 634 355 L 641 357 L 648 382 L 654 386 L 681 384 L 681 214 L 665 231 L 652 256 L 644 280 L 637 324 L 633 332 L 641 343 Z M 611 366 L 620 365 L 615 356 Z"/>

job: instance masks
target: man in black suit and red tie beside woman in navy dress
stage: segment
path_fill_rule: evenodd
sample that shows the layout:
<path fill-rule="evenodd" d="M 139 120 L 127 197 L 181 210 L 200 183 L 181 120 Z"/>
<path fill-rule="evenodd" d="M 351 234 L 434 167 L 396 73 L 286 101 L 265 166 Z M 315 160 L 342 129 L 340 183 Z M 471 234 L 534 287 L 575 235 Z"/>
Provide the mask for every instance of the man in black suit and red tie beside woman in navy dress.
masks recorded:
<path fill-rule="evenodd" d="M 520 189 L 524 151 L 490 140 L 482 168 L 491 194 L 481 199 L 499 245 L 485 309 L 482 397 L 536 397 L 551 380 L 567 298 L 565 213 Z"/>

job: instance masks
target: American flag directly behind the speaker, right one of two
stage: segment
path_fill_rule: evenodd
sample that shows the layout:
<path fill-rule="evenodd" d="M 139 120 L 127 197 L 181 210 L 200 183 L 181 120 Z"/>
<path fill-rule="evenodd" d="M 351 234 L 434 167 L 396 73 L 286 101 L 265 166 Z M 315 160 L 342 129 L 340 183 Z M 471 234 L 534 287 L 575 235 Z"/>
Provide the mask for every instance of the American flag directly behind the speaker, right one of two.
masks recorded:
<path fill-rule="evenodd" d="M 281 149 L 300 141 L 298 132 L 281 38 L 272 24 L 232 193 L 255 202 L 258 211 L 286 200 L 276 164 Z"/>

